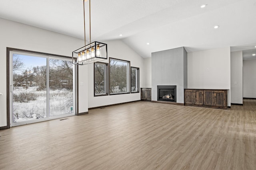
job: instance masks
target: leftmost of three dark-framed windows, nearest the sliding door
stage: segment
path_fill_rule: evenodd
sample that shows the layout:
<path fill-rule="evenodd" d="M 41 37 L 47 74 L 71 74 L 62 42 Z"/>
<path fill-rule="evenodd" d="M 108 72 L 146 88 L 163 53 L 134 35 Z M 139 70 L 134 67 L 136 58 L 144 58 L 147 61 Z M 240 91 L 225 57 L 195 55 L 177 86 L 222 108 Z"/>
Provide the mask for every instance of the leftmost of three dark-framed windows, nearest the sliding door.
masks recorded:
<path fill-rule="evenodd" d="M 94 63 L 94 96 L 108 95 L 108 63 Z"/>

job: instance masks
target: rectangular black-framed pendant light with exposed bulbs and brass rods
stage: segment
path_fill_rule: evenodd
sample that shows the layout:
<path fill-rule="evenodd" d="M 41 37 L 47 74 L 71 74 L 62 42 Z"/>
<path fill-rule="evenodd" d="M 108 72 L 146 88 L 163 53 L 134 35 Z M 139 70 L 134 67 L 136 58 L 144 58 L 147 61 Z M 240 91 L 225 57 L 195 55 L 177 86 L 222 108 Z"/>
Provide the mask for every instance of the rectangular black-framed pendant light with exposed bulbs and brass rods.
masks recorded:
<path fill-rule="evenodd" d="M 85 6 L 86 0 L 83 0 Z M 95 63 L 101 60 L 108 59 L 107 55 L 107 44 L 100 42 L 91 43 L 91 0 L 89 0 L 89 26 L 90 26 L 90 43 L 86 45 L 86 36 L 85 36 L 85 10 L 84 10 L 84 47 L 77 49 L 72 52 L 72 61 L 76 65 L 85 65 L 90 63 Z"/>

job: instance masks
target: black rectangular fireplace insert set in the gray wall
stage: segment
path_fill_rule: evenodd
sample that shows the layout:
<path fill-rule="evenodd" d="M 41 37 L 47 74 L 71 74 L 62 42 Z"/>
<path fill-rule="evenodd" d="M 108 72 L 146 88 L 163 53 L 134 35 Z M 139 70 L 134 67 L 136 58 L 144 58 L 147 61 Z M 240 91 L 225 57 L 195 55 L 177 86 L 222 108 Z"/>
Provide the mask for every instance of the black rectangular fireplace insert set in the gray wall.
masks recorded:
<path fill-rule="evenodd" d="M 176 86 L 157 86 L 157 100 L 176 102 Z"/>

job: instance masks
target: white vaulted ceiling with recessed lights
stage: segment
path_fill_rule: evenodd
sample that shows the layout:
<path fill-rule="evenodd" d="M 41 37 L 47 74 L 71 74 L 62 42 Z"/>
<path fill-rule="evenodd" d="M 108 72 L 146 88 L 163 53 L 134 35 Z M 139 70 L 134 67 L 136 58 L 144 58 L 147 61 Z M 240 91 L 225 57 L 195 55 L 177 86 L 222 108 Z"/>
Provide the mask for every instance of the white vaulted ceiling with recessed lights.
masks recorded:
<path fill-rule="evenodd" d="M 83 0 L 0 0 L 0 18 L 84 38 Z M 92 41 L 121 39 L 144 58 L 182 46 L 256 45 L 255 21 L 256 0 L 91 0 Z"/>

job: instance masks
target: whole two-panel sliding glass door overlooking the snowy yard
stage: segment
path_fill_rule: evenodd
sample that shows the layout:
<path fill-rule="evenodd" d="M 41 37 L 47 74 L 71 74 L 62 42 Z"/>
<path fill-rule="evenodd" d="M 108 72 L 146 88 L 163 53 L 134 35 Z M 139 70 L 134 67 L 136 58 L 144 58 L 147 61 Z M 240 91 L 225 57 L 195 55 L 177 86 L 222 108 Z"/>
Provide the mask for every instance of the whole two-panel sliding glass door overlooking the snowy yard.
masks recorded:
<path fill-rule="evenodd" d="M 74 115 L 72 59 L 10 53 L 10 126 Z"/>

